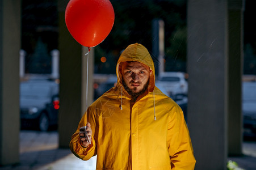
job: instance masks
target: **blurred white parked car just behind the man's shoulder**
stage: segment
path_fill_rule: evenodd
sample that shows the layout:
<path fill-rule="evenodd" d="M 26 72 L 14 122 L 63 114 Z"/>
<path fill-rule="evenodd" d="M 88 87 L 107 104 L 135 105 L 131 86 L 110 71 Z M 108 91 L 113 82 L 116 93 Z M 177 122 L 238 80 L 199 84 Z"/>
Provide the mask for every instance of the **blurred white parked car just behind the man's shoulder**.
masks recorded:
<path fill-rule="evenodd" d="M 188 83 L 185 74 L 181 72 L 163 72 L 160 73 L 156 83 L 161 83 L 169 96 L 176 100 L 177 97 L 187 95 Z"/>

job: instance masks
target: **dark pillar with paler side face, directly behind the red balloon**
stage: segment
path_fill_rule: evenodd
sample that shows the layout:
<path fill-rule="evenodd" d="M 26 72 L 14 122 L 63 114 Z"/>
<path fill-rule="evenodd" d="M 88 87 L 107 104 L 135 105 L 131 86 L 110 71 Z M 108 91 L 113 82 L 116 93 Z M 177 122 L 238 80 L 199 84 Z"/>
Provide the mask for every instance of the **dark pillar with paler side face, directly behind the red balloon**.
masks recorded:
<path fill-rule="evenodd" d="M 58 0 L 60 50 L 60 112 L 58 118 L 59 147 L 68 147 L 77 129 L 81 115 L 86 111 L 85 47 L 70 35 L 65 24 L 65 8 L 68 0 Z M 93 101 L 93 49 L 89 56 L 89 104 Z"/>

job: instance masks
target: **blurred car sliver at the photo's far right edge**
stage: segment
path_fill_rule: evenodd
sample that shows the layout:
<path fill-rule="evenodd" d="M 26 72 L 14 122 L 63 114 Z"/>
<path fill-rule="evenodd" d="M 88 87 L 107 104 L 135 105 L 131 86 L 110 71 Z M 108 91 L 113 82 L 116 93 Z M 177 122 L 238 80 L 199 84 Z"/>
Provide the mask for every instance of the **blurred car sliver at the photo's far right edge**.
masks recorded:
<path fill-rule="evenodd" d="M 256 82 L 242 84 L 244 136 L 256 137 Z"/>

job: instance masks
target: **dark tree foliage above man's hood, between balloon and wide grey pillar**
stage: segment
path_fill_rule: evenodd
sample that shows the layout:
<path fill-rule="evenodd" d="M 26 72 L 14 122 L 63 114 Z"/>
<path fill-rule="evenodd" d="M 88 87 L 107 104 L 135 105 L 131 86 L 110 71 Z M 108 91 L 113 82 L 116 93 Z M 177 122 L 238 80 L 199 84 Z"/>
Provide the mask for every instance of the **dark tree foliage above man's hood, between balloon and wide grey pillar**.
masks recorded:
<path fill-rule="evenodd" d="M 173 62 L 170 58 L 174 57 L 186 62 L 186 0 L 112 0 L 111 3 L 115 23 L 110 35 L 95 47 L 95 73 L 115 73 L 120 52 L 129 44 L 139 42 L 152 51 L 152 20 L 157 18 L 165 22 L 166 62 Z M 102 55 L 106 55 L 106 63 L 100 62 Z M 114 65 L 105 67 L 110 61 Z"/>

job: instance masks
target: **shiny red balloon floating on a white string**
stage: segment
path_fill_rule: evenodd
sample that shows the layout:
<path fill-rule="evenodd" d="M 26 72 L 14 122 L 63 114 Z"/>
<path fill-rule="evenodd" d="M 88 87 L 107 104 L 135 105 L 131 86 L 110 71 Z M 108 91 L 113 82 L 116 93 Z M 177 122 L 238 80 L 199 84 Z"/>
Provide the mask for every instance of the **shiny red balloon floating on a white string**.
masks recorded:
<path fill-rule="evenodd" d="M 93 47 L 106 39 L 114 20 L 114 8 L 109 0 L 70 0 L 66 6 L 66 27 L 83 46 Z"/>

